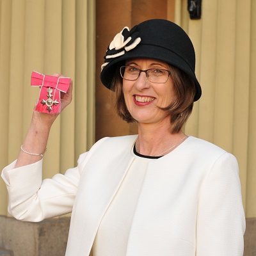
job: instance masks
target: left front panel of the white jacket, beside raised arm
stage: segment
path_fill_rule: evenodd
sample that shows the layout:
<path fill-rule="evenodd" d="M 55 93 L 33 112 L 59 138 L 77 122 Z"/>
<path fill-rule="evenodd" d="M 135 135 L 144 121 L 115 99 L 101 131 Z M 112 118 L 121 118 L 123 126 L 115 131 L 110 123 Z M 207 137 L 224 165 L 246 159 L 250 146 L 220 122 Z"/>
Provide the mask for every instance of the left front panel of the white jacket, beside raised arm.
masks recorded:
<path fill-rule="evenodd" d="M 90 254 L 100 221 L 118 191 L 134 157 L 136 136 L 96 143 L 86 159 L 72 211 L 66 256 Z"/>

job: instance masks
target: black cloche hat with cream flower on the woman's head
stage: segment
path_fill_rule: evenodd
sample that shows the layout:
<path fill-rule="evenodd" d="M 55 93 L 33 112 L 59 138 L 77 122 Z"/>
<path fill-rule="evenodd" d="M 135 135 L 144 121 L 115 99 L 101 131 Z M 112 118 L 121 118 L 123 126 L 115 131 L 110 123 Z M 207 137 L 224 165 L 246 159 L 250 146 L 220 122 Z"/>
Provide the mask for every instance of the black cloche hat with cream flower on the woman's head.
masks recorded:
<path fill-rule="evenodd" d="M 180 68 L 196 84 L 194 101 L 201 97 L 201 87 L 195 76 L 195 49 L 189 36 L 177 24 L 163 19 L 141 22 L 131 31 L 125 27 L 108 47 L 101 66 L 100 79 L 111 88 L 116 68 L 125 60 L 152 58 Z"/>

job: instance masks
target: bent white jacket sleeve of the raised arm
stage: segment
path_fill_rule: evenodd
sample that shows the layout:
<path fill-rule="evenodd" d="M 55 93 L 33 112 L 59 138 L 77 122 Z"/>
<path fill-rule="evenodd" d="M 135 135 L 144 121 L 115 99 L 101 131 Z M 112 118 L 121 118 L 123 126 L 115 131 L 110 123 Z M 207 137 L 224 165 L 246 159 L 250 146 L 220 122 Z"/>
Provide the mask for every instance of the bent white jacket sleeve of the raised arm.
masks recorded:
<path fill-rule="evenodd" d="M 65 175 L 58 173 L 43 181 L 42 160 L 20 168 L 14 168 L 15 162 L 6 166 L 1 176 L 9 194 L 8 212 L 22 221 L 42 221 L 71 212 L 86 154 Z"/>

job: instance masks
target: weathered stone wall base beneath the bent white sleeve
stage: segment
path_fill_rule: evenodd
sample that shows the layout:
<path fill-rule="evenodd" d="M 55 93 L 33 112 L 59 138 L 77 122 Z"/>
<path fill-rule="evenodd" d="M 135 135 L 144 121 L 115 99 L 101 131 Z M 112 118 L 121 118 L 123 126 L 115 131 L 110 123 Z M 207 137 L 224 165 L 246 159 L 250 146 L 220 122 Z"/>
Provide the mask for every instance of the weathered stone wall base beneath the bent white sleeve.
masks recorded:
<path fill-rule="evenodd" d="M 0 256 L 64 256 L 69 224 L 67 217 L 31 223 L 0 216 Z"/>

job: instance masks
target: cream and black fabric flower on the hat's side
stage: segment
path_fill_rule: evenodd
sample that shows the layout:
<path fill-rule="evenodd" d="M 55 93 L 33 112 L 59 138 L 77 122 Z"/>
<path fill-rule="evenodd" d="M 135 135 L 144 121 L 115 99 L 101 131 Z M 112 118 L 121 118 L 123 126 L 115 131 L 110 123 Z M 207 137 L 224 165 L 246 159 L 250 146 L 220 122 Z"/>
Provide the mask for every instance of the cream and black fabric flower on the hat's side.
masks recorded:
<path fill-rule="evenodd" d="M 131 31 L 129 31 L 128 27 L 125 27 L 109 44 L 106 56 L 104 56 L 105 63 L 101 65 L 101 70 L 116 57 L 122 56 L 125 52 L 134 49 L 140 41 L 141 38 L 139 37 L 137 26 L 134 26 Z"/>

